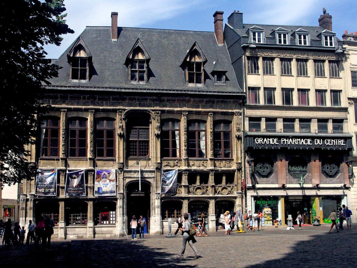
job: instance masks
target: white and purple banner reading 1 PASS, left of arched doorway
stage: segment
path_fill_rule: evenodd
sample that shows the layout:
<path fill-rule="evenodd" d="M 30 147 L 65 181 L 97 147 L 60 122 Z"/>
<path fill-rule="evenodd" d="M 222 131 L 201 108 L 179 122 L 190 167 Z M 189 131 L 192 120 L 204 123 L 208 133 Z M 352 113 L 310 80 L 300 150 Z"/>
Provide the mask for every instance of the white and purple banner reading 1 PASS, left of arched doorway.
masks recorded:
<path fill-rule="evenodd" d="M 95 196 L 115 196 L 115 170 L 96 170 L 94 195 Z"/>

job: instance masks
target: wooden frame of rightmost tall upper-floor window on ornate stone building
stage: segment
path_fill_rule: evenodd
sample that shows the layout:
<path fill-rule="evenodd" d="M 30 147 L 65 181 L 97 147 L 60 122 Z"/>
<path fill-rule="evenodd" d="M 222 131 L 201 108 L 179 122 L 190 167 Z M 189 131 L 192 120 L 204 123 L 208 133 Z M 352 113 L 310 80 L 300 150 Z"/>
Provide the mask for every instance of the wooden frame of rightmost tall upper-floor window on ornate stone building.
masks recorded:
<path fill-rule="evenodd" d="M 223 130 L 223 124 L 229 125 L 229 130 Z M 216 130 L 216 126 L 221 125 L 220 130 Z M 229 148 L 225 148 L 224 132 L 229 132 Z M 219 135 L 218 135 L 219 134 Z M 219 138 L 217 138 L 219 136 Z M 221 148 L 216 148 L 220 144 Z M 229 156 L 225 156 L 225 151 L 229 149 Z M 221 157 L 218 157 L 218 150 L 221 151 Z M 216 153 L 217 152 L 217 153 Z M 232 122 L 230 121 L 216 121 L 213 127 L 213 155 L 215 158 L 232 158 Z"/>

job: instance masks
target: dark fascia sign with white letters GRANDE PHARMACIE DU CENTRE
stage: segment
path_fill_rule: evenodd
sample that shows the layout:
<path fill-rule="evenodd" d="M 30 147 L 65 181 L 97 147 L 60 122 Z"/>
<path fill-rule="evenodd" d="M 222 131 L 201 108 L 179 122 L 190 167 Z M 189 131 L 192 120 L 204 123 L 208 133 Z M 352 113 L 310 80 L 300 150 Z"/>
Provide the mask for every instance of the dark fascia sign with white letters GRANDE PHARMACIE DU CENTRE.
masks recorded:
<path fill-rule="evenodd" d="M 267 136 L 246 136 L 246 148 L 296 148 L 312 149 L 323 148 L 328 150 L 347 150 L 352 148 L 352 138 L 339 137 L 267 137 Z"/>

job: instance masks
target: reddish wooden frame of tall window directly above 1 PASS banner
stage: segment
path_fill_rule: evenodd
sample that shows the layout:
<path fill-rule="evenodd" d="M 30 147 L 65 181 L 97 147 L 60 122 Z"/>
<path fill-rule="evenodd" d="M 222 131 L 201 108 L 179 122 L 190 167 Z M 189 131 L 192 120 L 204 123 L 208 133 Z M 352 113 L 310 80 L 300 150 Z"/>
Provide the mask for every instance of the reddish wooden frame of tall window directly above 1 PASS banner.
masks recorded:
<path fill-rule="evenodd" d="M 104 127 L 98 127 L 98 122 L 99 121 L 104 121 Z M 107 127 L 107 122 L 113 122 L 112 127 Z M 103 131 L 103 137 L 99 138 L 99 131 Z M 113 133 L 113 138 L 108 138 L 108 132 L 112 131 Z M 99 147 L 100 140 L 103 141 L 103 147 Z M 113 147 L 108 147 L 108 141 L 110 140 L 113 141 Z M 103 150 L 103 156 L 98 156 L 98 149 Z M 109 154 L 109 151 L 112 150 L 112 156 L 107 156 Z M 97 118 L 96 120 L 96 157 L 97 158 L 115 158 L 115 120 L 112 118 Z"/>

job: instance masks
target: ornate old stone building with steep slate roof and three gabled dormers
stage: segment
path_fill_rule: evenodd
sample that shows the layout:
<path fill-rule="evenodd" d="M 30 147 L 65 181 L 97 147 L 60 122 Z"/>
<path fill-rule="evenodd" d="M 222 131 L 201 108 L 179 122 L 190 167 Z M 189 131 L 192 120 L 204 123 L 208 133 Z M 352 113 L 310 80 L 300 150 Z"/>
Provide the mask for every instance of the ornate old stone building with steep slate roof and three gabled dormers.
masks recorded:
<path fill-rule="evenodd" d="M 227 47 L 223 12 L 215 32 L 86 27 L 54 64 L 44 85 L 30 161 L 57 170 L 54 197 L 21 195 L 21 225 L 50 214 L 60 239 L 109 237 L 147 219 L 147 233 L 167 233 L 168 219 L 242 209 L 242 98 Z M 178 170 L 177 193 L 160 193 L 162 171 Z M 67 171 L 85 170 L 86 194 L 65 195 Z M 96 195 L 95 171 L 115 170 L 116 195 Z M 99 191 L 98 191 L 99 192 Z M 174 226 L 173 228 L 175 227 Z"/>

